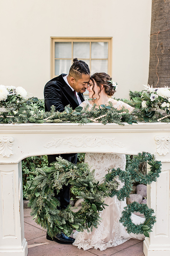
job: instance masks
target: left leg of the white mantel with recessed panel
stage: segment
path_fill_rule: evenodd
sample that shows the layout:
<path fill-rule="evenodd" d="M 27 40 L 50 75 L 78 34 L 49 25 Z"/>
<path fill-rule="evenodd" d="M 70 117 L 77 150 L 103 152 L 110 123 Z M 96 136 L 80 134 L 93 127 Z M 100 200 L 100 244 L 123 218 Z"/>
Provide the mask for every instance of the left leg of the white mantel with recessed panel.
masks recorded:
<path fill-rule="evenodd" d="M 0 256 L 27 256 L 21 162 L 0 165 L 0 227 Z"/>

